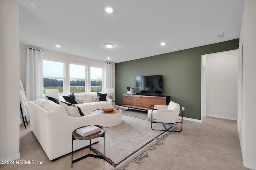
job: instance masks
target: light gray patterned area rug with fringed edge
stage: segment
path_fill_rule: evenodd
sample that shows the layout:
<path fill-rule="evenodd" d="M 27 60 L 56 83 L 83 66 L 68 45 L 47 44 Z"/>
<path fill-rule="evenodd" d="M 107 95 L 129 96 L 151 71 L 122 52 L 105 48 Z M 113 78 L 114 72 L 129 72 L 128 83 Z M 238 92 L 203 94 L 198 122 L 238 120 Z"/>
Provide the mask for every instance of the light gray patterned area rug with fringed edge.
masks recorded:
<path fill-rule="evenodd" d="M 163 129 L 160 123 L 154 124 L 154 127 Z M 147 156 L 148 148 L 162 144 L 162 140 L 170 133 L 152 130 L 150 121 L 123 115 L 120 125 L 106 128 L 106 161 L 118 170 L 123 170 L 129 162 L 139 163 L 142 157 Z M 103 138 L 91 149 L 103 156 Z"/>

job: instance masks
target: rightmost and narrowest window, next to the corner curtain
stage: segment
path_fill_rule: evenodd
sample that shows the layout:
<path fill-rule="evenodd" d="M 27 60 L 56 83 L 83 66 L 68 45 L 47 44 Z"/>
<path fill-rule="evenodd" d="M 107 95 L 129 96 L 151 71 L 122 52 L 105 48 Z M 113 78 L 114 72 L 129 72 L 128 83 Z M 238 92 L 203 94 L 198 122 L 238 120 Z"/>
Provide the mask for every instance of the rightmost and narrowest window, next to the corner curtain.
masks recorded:
<path fill-rule="evenodd" d="M 102 68 L 91 67 L 91 92 L 102 91 Z"/>

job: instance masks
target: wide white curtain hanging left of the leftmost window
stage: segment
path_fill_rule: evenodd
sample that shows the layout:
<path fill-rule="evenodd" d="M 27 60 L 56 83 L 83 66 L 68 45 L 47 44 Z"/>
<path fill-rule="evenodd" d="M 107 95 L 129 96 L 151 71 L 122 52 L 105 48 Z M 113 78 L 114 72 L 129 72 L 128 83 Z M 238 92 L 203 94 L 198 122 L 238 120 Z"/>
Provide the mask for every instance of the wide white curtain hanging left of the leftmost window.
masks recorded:
<path fill-rule="evenodd" d="M 43 57 L 42 49 L 27 47 L 26 97 L 28 101 L 44 97 Z"/>

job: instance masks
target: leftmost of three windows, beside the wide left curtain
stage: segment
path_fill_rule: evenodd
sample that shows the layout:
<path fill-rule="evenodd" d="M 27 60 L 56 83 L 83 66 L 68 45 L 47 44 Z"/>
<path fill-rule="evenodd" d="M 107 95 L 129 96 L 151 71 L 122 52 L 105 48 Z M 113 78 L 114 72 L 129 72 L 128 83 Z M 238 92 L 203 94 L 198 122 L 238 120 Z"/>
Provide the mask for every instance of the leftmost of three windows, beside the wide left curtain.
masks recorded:
<path fill-rule="evenodd" d="M 63 93 L 64 63 L 43 61 L 44 89 L 59 89 Z"/>

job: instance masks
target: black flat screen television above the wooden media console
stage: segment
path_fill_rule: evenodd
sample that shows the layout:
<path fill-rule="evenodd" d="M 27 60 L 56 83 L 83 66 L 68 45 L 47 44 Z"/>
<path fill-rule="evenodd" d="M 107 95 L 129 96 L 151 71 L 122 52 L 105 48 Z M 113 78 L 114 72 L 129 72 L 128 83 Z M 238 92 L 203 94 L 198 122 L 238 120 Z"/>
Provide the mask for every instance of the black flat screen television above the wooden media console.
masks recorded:
<path fill-rule="evenodd" d="M 136 93 L 163 93 L 163 75 L 136 76 Z"/>

